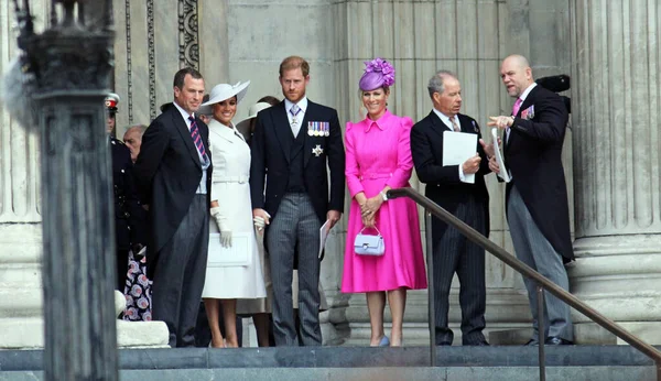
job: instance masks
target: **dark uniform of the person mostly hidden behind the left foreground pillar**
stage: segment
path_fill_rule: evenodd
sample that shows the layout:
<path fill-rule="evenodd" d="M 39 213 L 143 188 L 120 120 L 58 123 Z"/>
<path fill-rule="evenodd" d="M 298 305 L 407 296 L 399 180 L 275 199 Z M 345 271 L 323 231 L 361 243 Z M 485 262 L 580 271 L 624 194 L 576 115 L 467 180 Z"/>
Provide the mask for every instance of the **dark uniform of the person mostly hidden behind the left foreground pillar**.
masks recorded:
<path fill-rule="evenodd" d="M 115 235 L 117 248 L 117 290 L 127 283 L 129 250 L 139 251 L 147 242 L 145 211 L 133 184 L 131 152 L 123 142 L 109 138 L 112 154 L 112 190 L 115 194 Z"/>

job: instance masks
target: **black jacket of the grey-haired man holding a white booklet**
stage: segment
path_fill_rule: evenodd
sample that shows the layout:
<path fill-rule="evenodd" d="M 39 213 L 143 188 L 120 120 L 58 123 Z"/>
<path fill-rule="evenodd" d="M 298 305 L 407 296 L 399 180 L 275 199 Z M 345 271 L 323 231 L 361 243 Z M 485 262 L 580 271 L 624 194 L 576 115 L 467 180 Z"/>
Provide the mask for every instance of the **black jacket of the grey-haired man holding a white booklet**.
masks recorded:
<path fill-rule="evenodd" d="M 463 183 L 459 179 L 458 165 L 443 166 L 443 132 L 451 129 L 433 110 L 411 129 L 411 154 L 415 173 L 418 178 L 426 184 L 425 196 L 453 215 L 457 206 L 466 203 L 468 196 L 473 195 L 485 210 L 485 231 L 489 236 L 489 193 L 484 176 L 490 171 L 487 156 L 479 144 L 481 138 L 479 124 L 475 119 L 463 113 L 459 113 L 458 118 L 462 132 L 477 134 L 478 143 L 475 151 L 481 161 L 479 171 L 475 174 L 475 184 Z M 443 237 L 446 229 L 447 224 L 437 218 L 432 219 L 434 240 Z"/>

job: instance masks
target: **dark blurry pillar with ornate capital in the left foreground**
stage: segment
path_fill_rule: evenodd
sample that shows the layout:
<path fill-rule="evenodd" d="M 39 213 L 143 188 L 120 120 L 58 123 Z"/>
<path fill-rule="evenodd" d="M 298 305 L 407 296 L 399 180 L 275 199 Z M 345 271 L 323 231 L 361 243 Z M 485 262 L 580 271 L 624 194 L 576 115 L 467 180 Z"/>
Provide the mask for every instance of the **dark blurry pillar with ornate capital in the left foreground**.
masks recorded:
<path fill-rule="evenodd" d="M 36 118 L 22 122 L 37 133 L 42 153 L 46 380 L 118 378 L 102 106 L 112 69 L 111 0 L 104 4 L 100 28 L 84 24 L 79 1 L 63 1 L 58 12 L 53 3 L 43 33 L 34 32 L 28 2 L 17 14 L 21 63 L 32 77 L 25 91 L 36 107 Z"/>

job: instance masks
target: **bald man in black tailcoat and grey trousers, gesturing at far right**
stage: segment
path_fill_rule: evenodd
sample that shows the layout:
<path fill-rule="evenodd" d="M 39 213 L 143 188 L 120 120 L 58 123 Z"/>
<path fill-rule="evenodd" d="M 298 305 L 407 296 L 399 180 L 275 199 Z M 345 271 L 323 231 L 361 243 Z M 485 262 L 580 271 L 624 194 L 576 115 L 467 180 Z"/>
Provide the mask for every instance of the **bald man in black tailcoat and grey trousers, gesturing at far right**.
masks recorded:
<path fill-rule="evenodd" d="M 505 166 L 511 174 L 506 188 L 507 220 L 517 257 L 542 275 L 568 290 L 563 262 L 574 259 L 570 238 L 570 208 L 562 167 L 567 110 L 562 98 L 537 86 L 528 59 L 511 55 L 502 62 L 500 77 L 510 97 L 517 98 L 511 116 L 490 117 L 489 126 L 505 129 Z M 489 167 L 499 173 L 495 159 Z M 529 345 L 538 344 L 535 283 L 525 279 L 533 319 Z M 573 341 L 570 306 L 544 294 L 544 337 L 550 345 Z"/>

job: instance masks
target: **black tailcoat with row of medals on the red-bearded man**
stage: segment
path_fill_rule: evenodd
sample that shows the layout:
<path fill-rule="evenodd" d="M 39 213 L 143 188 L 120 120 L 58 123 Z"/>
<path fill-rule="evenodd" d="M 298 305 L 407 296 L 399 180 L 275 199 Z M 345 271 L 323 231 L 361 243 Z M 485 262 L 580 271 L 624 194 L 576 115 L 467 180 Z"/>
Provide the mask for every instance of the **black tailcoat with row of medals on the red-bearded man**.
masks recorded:
<path fill-rule="evenodd" d="M 328 137 L 311 137 L 307 123 L 328 122 Z M 344 210 L 345 152 L 337 111 L 307 100 L 305 117 L 301 123 L 304 134 L 303 172 L 307 195 L 319 221 L 326 220 L 328 210 Z M 257 115 L 257 124 L 251 144 L 250 196 L 253 208 L 263 208 L 271 215 L 278 214 L 282 196 L 288 189 L 292 130 L 286 117 L 284 101 Z M 316 146 L 323 150 L 313 154 Z M 328 173 L 330 170 L 330 187 Z M 266 192 L 264 192 L 266 185 Z"/>

